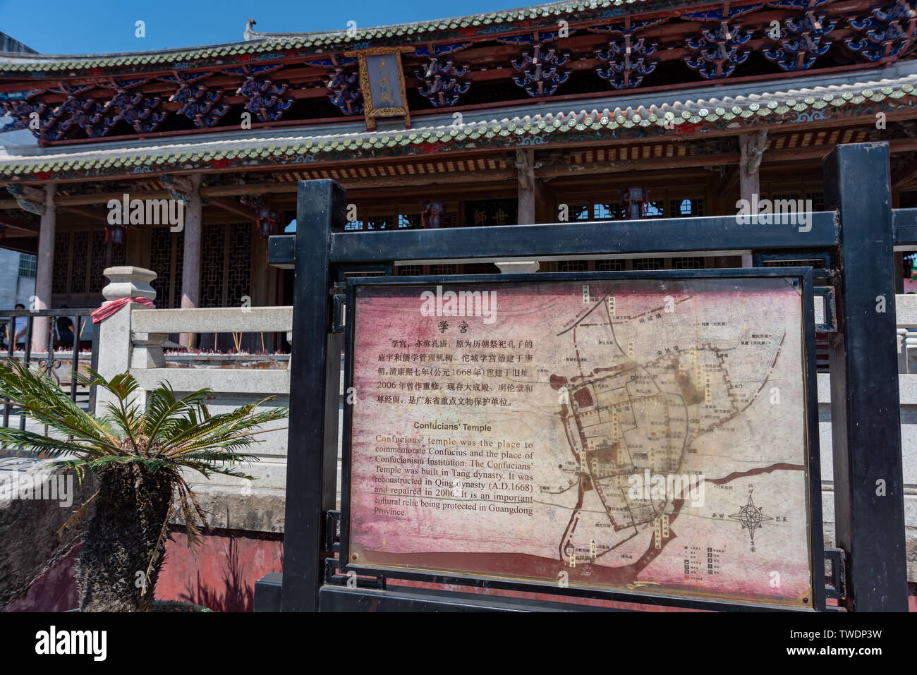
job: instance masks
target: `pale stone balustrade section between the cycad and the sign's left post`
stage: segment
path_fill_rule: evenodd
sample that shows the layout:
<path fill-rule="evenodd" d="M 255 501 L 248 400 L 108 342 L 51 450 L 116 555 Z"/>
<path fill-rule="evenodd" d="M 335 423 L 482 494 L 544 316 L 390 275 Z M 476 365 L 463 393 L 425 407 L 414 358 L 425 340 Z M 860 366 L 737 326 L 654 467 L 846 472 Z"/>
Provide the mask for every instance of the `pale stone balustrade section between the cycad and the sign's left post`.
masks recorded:
<path fill-rule="evenodd" d="M 103 292 L 109 302 L 135 297 L 155 302 L 156 292 L 150 286 L 156 278 L 155 272 L 138 267 L 117 267 L 105 270 L 105 276 L 111 280 Z M 169 382 L 180 396 L 210 389 L 212 394 L 207 406 L 214 414 L 269 396 L 272 399 L 265 406 L 288 405 L 289 366 L 283 370 L 181 367 L 174 360 L 167 362 L 163 345 L 170 334 L 176 333 L 289 334 L 292 330 L 293 307 L 150 309 L 143 304 L 126 304 L 101 324 L 98 370 L 105 377 L 130 371 L 139 384 L 138 403 L 141 405 L 146 393 L 159 382 Z M 111 400 L 110 395 L 98 391 L 96 412 L 103 411 L 105 402 Z M 255 481 L 220 475 L 207 480 L 194 472 L 187 475 L 205 510 L 213 514 L 211 526 L 282 531 L 286 423 L 271 423 L 265 430 L 269 433 L 260 435 L 260 442 L 247 450 L 259 459 L 245 467 L 247 473 L 255 476 Z"/>

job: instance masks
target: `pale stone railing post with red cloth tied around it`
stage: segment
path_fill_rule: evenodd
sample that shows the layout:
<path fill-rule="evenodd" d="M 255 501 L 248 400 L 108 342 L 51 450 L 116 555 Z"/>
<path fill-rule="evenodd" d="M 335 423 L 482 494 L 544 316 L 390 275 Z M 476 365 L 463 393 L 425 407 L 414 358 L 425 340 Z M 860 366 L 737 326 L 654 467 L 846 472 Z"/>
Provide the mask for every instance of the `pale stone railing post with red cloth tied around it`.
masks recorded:
<path fill-rule="evenodd" d="M 102 294 L 110 304 L 124 298 L 142 297 L 148 300 L 156 299 L 156 291 L 149 285 L 156 279 L 156 272 L 145 270 L 142 267 L 133 267 L 125 265 L 121 267 L 109 267 L 103 272 L 108 278 L 109 283 L 102 289 Z M 104 307 L 105 304 L 102 306 Z M 128 303 L 117 310 L 111 316 L 105 318 L 99 326 L 99 344 L 98 344 L 98 372 L 106 379 L 125 372 L 135 367 L 162 367 L 162 342 L 166 336 L 159 335 L 138 336 L 139 348 L 137 354 L 134 354 L 133 344 L 130 335 L 130 313 L 134 307 L 143 305 Z M 159 341 L 157 341 L 159 340 Z M 156 350 L 159 349 L 159 359 L 156 356 Z M 111 394 L 97 390 L 95 397 L 95 411 L 97 414 L 104 413 L 102 406 L 107 402 L 113 402 Z"/>

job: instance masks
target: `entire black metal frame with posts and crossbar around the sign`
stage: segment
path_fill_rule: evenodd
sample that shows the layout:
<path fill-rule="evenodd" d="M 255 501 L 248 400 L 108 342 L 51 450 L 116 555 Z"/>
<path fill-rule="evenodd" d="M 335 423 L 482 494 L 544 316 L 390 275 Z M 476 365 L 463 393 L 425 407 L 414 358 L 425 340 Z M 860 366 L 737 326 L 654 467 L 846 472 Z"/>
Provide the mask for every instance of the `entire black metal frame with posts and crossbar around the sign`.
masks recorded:
<path fill-rule="evenodd" d="M 264 580 L 259 584 L 263 597 L 279 595 L 277 608 L 283 611 L 518 610 L 548 609 L 552 604 L 510 598 L 488 601 L 481 595 L 459 592 L 388 591 L 384 577 L 360 579 L 352 585 L 326 583 L 326 561 L 342 550 L 328 543 L 334 538 L 328 531 L 328 523 L 333 522 L 328 516 L 336 513 L 338 354 L 342 347 L 342 335 L 334 332 L 339 326 L 334 308 L 335 296 L 339 298 L 345 287 L 340 283 L 336 287 L 338 267 L 389 266 L 397 260 L 538 260 L 547 256 L 750 249 L 755 254 L 793 253 L 803 259 L 828 254 L 826 260 L 834 261 L 834 269 L 818 271 L 833 288 L 836 311 L 836 333 L 831 338 L 834 529 L 836 546 L 843 551 L 832 558 L 832 593 L 851 611 L 907 611 L 892 251 L 894 246 L 917 249 L 917 209 L 892 211 L 890 207 L 887 144 L 838 146 L 823 161 L 823 174 L 824 204 L 832 210 L 808 214 L 806 227 L 739 225 L 735 216 L 706 216 L 485 230 L 456 227 L 344 232 L 343 188 L 333 181 L 299 183 L 296 234 L 269 241 L 269 262 L 295 270 L 295 289 L 282 592 L 276 592 L 276 579 Z M 790 272 L 783 269 L 778 273 Z M 658 276 L 659 272 L 653 274 Z M 804 274 L 812 275 L 812 270 L 806 269 Z M 547 281 L 549 276 L 537 275 L 539 281 Z M 500 278 L 522 280 L 515 274 Z M 599 278 L 613 275 L 602 273 Z M 481 277 L 474 277 L 474 281 L 481 282 Z M 360 279 L 364 282 L 370 279 Z M 811 300 L 810 294 L 805 305 L 807 343 L 815 330 Z M 809 382 L 814 377 L 813 363 L 809 362 L 812 349 L 806 350 L 806 359 Z M 808 390 L 806 419 L 814 434 L 817 406 L 812 404 L 815 387 L 811 382 Z M 818 458 L 812 459 L 814 468 Z M 819 478 L 817 471 L 812 471 L 811 479 Z M 821 492 L 812 490 L 810 497 L 814 509 L 821 501 Z M 821 517 L 812 521 L 821 522 Z M 825 609 L 819 562 L 813 560 L 812 582 L 813 590 L 819 588 L 821 594 L 813 604 L 814 609 Z M 839 562 L 844 564 L 836 564 Z M 846 578 L 838 583 L 836 571 L 841 569 Z M 448 578 L 425 576 L 425 581 L 447 582 Z M 368 584 L 373 587 L 367 588 Z M 502 586 L 494 581 L 481 585 Z M 841 587 L 843 593 L 837 592 Z M 560 590 L 552 588 L 558 595 Z M 709 602 L 675 596 L 627 594 L 627 600 L 712 608 Z M 761 609 L 757 604 L 749 607 L 742 603 L 713 603 L 713 608 Z"/>

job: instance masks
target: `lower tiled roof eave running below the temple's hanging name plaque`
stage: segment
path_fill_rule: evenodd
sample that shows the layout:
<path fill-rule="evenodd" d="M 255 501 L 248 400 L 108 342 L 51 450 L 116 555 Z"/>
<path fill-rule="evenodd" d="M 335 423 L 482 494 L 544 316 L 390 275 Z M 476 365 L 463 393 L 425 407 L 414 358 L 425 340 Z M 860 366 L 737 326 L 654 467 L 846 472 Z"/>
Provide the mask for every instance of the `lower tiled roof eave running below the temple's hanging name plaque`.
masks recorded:
<path fill-rule="evenodd" d="M 828 118 L 845 105 L 868 105 L 889 99 L 915 97 L 917 73 L 875 82 L 814 86 L 786 91 L 741 94 L 722 98 L 699 98 L 661 105 L 628 106 L 557 111 L 553 113 L 472 121 L 389 131 L 323 133 L 322 129 L 298 129 L 297 135 L 238 138 L 237 135 L 196 142 L 163 143 L 116 149 L 51 149 L 40 156 L 11 156 L 0 160 L 0 176 L 94 169 L 99 173 L 152 173 L 171 167 L 176 171 L 254 163 L 303 164 L 322 159 L 356 158 L 380 149 L 433 150 L 469 148 L 489 139 L 505 138 L 506 147 L 547 144 L 546 136 L 602 132 L 643 127 L 660 135 L 679 133 L 679 127 L 717 122 L 753 123 L 796 113 L 790 122 Z M 653 129 L 655 127 L 655 129 Z M 369 151 L 369 153 L 367 152 Z M 429 150 L 425 150 L 429 151 Z"/>

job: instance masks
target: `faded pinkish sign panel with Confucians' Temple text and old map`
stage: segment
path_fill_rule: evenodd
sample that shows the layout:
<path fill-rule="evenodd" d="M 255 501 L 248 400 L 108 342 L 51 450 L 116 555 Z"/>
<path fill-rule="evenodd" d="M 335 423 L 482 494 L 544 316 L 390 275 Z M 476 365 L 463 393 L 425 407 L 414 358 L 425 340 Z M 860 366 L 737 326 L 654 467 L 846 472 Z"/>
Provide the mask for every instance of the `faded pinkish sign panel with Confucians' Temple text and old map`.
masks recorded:
<path fill-rule="evenodd" d="M 369 285 L 348 559 L 810 606 L 801 289 Z"/>

